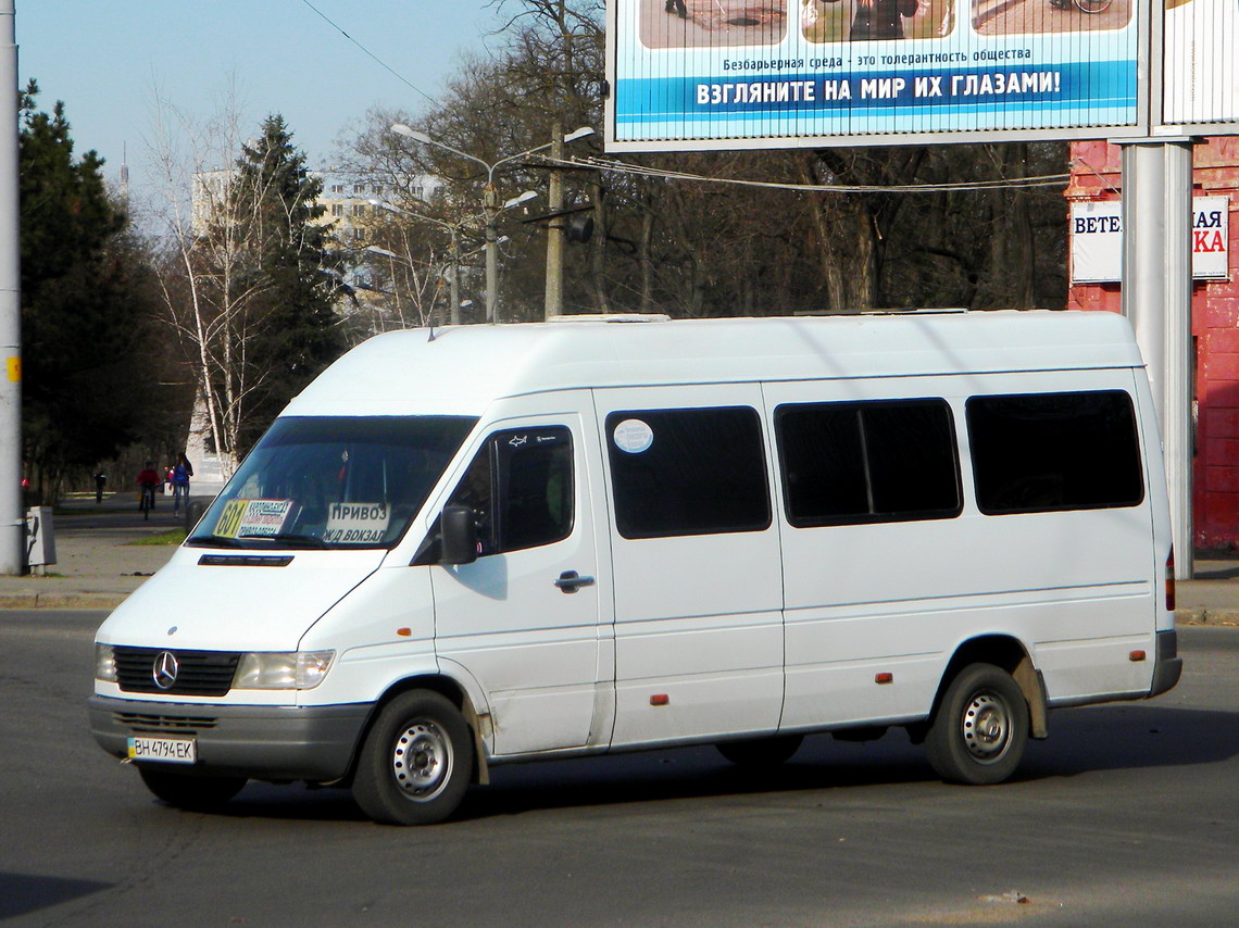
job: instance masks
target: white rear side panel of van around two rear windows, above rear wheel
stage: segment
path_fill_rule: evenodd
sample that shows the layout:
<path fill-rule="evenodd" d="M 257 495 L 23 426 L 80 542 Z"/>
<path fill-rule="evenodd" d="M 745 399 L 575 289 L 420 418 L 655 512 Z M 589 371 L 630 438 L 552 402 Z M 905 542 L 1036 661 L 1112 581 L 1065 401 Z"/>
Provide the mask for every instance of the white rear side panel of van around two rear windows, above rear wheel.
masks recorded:
<path fill-rule="evenodd" d="M 959 442 L 953 518 L 794 528 L 779 501 L 787 616 L 783 729 L 924 716 L 955 648 L 1023 642 L 1051 699 L 1147 690 L 1149 493 L 1135 507 L 985 515 L 964 404 L 979 394 L 1131 390 L 1130 370 L 767 384 L 781 404 L 942 398 Z M 781 488 L 782 489 L 782 488 Z M 877 674 L 893 683 L 876 683 Z"/>

